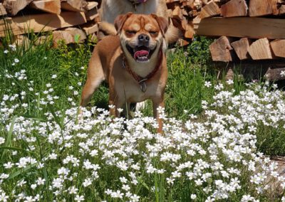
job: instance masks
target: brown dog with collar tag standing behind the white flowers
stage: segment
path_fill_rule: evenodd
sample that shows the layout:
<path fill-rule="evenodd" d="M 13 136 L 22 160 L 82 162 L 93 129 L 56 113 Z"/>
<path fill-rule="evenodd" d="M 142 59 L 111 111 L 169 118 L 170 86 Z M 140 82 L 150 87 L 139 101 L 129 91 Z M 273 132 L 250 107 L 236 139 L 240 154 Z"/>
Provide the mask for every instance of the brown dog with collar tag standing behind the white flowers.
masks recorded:
<path fill-rule="evenodd" d="M 164 107 L 167 65 L 162 51 L 168 21 L 150 15 L 128 13 L 115 19 L 119 36 L 106 36 L 98 42 L 88 66 L 81 106 L 85 107 L 103 80 L 109 84 L 110 115 L 119 117 L 118 108 L 130 102 L 152 100 L 153 115 L 162 132 L 157 107 Z"/>

